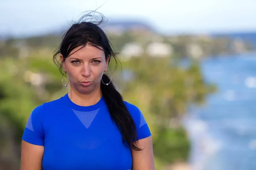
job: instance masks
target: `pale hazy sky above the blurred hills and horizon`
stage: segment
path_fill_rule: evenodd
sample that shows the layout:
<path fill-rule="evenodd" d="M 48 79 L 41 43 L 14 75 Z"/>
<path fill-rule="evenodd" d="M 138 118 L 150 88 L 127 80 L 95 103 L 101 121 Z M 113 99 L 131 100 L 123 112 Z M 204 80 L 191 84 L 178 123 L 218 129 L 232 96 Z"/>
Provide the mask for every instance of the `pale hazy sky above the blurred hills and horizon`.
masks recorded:
<path fill-rule="evenodd" d="M 162 34 L 256 31 L 256 0 L 0 0 L 0 35 L 44 34 L 99 6 L 109 21 L 142 20 Z"/>

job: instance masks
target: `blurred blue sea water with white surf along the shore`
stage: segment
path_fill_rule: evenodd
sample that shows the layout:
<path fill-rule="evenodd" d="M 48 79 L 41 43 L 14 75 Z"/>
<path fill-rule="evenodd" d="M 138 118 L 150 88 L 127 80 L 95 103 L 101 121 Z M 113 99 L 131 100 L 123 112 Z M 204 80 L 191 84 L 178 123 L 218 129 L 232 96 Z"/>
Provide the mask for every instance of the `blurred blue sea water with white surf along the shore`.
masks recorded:
<path fill-rule="evenodd" d="M 185 119 L 192 170 L 256 170 L 256 54 L 207 58 L 201 68 L 218 92 Z"/>

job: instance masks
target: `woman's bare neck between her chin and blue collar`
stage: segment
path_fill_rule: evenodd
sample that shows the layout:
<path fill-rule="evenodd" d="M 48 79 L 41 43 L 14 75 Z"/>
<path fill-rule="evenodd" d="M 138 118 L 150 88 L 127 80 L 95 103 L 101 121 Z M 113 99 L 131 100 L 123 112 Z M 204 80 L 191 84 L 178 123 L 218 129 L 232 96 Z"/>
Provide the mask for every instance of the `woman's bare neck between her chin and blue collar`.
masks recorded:
<path fill-rule="evenodd" d="M 81 94 L 76 91 L 73 87 L 70 87 L 70 92 L 68 93 L 70 100 L 79 106 L 91 106 L 95 105 L 102 97 L 102 91 L 99 88 L 91 92 L 90 94 Z"/>

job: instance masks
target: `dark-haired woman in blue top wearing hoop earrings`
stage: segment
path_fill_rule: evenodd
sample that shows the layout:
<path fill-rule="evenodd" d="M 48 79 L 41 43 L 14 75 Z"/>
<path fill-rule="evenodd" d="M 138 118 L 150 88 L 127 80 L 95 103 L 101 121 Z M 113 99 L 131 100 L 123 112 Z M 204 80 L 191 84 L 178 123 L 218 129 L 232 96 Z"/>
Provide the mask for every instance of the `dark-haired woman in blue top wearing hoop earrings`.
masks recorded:
<path fill-rule="evenodd" d="M 107 72 L 117 58 L 98 26 L 102 21 L 80 21 L 64 35 L 53 59 L 70 92 L 32 111 L 21 170 L 154 170 L 143 114 L 123 101 Z"/>

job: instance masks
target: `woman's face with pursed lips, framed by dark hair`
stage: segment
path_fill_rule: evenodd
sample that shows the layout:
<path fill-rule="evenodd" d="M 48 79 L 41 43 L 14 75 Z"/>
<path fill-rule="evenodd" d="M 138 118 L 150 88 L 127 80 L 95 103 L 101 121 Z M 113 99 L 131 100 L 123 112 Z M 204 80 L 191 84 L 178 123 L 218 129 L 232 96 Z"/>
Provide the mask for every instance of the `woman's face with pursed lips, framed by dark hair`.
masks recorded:
<path fill-rule="evenodd" d="M 90 43 L 79 48 L 70 52 L 71 55 L 64 60 L 62 66 L 68 75 L 71 90 L 90 94 L 100 90 L 102 75 L 108 70 L 109 57 L 106 61 L 104 51 L 99 49 L 101 47 L 96 48 Z M 60 58 L 62 61 L 63 56 L 60 55 Z"/>

